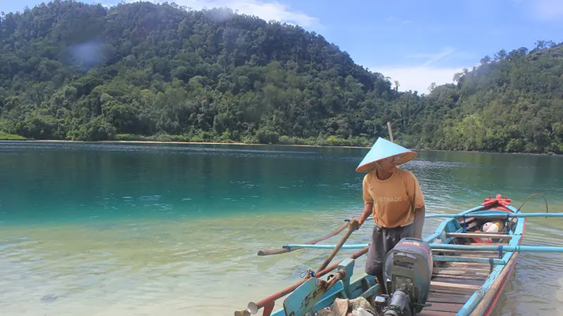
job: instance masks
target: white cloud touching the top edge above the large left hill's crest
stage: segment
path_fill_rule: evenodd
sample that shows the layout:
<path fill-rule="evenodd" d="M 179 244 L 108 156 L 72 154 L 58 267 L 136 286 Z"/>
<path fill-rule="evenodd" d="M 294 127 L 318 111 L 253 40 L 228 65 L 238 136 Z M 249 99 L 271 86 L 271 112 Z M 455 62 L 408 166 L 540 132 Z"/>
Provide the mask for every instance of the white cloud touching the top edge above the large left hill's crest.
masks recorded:
<path fill-rule="evenodd" d="M 127 0 L 127 2 L 137 1 Z M 158 3 L 160 1 L 153 0 L 151 2 Z M 266 21 L 276 20 L 306 28 L 321 27 L 318 18 L 301 11 L 295 11 L 290 6 L 273 0 L 175 0 L 174 2 L 179 6 L 190 7 L 194 10 L 227 7 L 232 8 L 233 11 L 238 11 L 240 14 L 255 15 Z"/>

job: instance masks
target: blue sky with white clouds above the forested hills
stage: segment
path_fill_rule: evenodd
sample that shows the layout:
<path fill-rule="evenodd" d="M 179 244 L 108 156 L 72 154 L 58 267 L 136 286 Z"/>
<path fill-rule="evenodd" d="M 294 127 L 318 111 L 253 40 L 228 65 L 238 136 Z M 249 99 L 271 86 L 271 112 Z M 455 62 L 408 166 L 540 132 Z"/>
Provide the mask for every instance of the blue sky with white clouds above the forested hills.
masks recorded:
<path fill-rule="evenodd" d="M 117 4 L 119 0 L 100 0 Z M 132 0 L 126 0 L 132 2 Z M 96 3 L 95 0 L 85 0 Z M 172 1 L 169 1 L 172 2 Z M 227 6 L 240 13 L 315 31 L 399 89 L 427 93 L 484 55 L 533 48 L 538 39 L 563 41 L 563 0 L 177 0 L 194 9 Z M 21 11 L 34 0 L 0 0 Z"/>

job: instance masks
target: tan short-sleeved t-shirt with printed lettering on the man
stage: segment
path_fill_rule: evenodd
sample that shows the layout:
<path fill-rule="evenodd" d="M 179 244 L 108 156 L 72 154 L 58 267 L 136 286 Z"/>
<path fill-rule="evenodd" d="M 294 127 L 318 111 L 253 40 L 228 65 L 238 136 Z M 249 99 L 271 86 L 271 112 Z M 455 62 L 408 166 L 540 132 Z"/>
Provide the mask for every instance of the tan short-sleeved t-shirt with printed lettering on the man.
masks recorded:
<path fill-rule="evenodd" d="M 415 202 L 415 209 L 424 206 L 417 178 L 412 172 L 399 168 L 386 180 L 379 180 L 375 170 L 367 173 L 363 180 L 363 199 L 364 204 L 374 204 L 374 221 L 384 228 L 413 223 L 415 213 L 411 203 Z"/>

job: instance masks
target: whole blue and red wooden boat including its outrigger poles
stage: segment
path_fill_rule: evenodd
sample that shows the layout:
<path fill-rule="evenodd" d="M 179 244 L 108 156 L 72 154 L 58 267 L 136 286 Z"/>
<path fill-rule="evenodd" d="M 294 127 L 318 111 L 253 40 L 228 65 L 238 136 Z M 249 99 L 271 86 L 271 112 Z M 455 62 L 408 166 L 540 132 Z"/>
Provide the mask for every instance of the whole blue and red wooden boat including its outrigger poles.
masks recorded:
<path fill-rule="evenodd" d="M 397 303 L 399 300 L 399 296 L 393 298 L 393 295 L 401 290 L 394 287 L 393 282 L 398 282 L 397 280 L 400 279 L 398 277 L 405 277 L 400 273 L 407 269 L 400 270 L 393 267 L 392 269 L 398 269 L 396 270 L 398 274 L 387 274 L 388 295 L 391 297 L 381 296 L 380 285 L 372 276 L 361 275 L 351 280 L 355 259 L 367 253 L 367 244 L 343 245 L 343 241 L 353 231 L 350 229 L 348 235 L 338 245 L 319 245 L 316 243 L 321 239 L 316 239 L 315 242 L 286 245 L 282 251 L 260 251 L 261 255 L 267 255 L 306 248 L 333 249 L 333 253 L 327 258 L 330 261 L 337 250 L 361 249 L 350 258 L 329 267 L 327 267 L 328 262 L 325 261 L 322 269 L 317 272 L 309 271 L 301 282 L 258 303 L 248 303 L 246 310 L 236 311 L 234 315 L 248 316 L 258 313 L 260 309 L 263 309 L 263 316 L 317 315 L 320 310 L 330 308 L 339 298 L 352 300 L 360 297 L 366 298 L 366 301 L 371 303 L 376 311 L 374 315 L 491 315 L 498 304 L 502 289 L 514 272 L 520 251 L 563 252 L 562 247 L 521 246 L 526 217 L 562 217 L 563 213 L 524 214 L 519 209 L 515 209 L 510 202 L 507 197 L 497 195 L 494 199 L 489 197 L 479 206 L 461 213 L 426 215 L 426 218 L 445 217 L 446 219 L 433 234 L 424 239 L 401 241 L 399 244 L 403 243 L 403 249 L 393 254 L 399 259 L 414 258 L 414 261 L 409 261 L 414 262 L 414 270 L 406 272 L 407 278 L 408 273 L 411 273 L 412 283 L 403 282 L 410 284 L 402 288 L 408 296 L 407 302 L 403 300 L 402 303 L 406 306 L 393 305 L 393 302 Z M 502 230 L 494 233 L 482 232 L 484 224 L 494 221 Z M 407 249 L 418 249 L 418 253 Z M 423 258 L 424 252 L 428 250 L 431 254 L 428 258 Z M 399 256 L 401 251 L 402 257 Z M 388 256 L 391 258 L 390 254 Z M 388 262 L 393 265 L 399 259 L 393 257 Z M 403 268 L 405 266 L 403 265 Z M 336 272 L 333 272 L 335 269 Z M 329 272 L 333 274 L 327 279 L 322 279 Z M 425 274 L 428 274 L 426 279 Z M 284 296 L 286 298 L 283 307 L 274 311 L 274 302 Z M 381 305 L 384 301 L 387 305 Z M 388 307 L 389 305 L 393 305 L 392 308 Z"/>

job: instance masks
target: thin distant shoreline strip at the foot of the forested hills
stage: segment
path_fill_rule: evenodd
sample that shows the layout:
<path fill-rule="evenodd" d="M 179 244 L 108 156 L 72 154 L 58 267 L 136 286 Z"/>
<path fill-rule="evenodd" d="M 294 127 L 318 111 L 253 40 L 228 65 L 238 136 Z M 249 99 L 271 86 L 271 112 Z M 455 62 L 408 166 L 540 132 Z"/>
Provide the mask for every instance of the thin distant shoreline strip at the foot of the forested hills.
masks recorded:
<path fill-rule="evenodd" d="M 1 140 L 0 140 L 1 141 Z M 338 145 L 302 145 L 302 144 L 260 144 L 260 143 L 220 143 L 220 142 L 182 142 L 182 141 L 158 141 L 158 140 L 10 140 L 31 143 L 120 143 L 120 144 L 181 144 L 181 145 L 245 145 L 245 146 L 286 146 L 286 147 L 329 147 L 329 148 L 353 148 L 353 149 L 369 149 L 371 146 L 338 146 Z M 555 153 L 536 153 L 536 152 L 481 152 L 479 150 L 435 150 L 428 148 L 409 148 L 412 151 L 425 152 L 465 152 L 474 154 L 530 154 L 535 156 L 557 156 L 563 157 L 563 154 Z"/>

